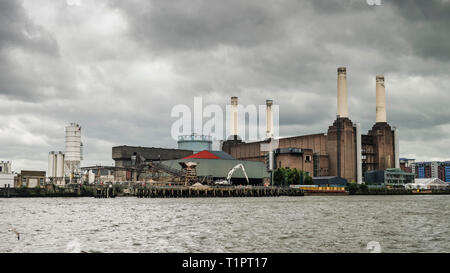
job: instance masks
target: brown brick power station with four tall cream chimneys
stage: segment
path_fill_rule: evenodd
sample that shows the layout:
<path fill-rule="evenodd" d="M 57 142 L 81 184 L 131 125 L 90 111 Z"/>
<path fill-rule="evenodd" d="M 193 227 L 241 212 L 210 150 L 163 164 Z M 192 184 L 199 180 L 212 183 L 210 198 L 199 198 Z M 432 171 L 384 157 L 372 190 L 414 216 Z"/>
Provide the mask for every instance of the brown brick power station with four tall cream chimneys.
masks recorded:
<path fill-rule="evenodd" d="M 237 131 L 238 98 L 231 98 L 232 135 L 222 150 L 239 160 L 262 161 L 269 169 L 296 168 L 318 176 L 362 182 L 363 173 L 399 168 L 398 131 L 387 123 L 384 77 L 376 77 L 376 120 L 366 135 L 348 114 L 347 70 L 337 69 L 337 117 L 326 133 L 273 139 L 272 101 L 267 100 L 267 138 L 243 142 Z M 270 148 L 267 148 L 270 147 Z M 268 161 L 268 162 L 267 162 Z"/>

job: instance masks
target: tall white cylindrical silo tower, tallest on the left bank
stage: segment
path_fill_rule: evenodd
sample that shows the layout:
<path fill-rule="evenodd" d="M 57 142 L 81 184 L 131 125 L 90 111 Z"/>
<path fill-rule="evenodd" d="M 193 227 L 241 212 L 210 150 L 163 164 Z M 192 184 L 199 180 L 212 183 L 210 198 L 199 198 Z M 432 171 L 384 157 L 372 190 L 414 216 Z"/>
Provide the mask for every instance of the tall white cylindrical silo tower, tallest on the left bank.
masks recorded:
<path fill-rule="evenodd" d="M 66 152 L 64 157 L 64 172 L 67 177 L 81 173 L 82 159 L 81 126 L 71 123 L 66 126 Z"/>

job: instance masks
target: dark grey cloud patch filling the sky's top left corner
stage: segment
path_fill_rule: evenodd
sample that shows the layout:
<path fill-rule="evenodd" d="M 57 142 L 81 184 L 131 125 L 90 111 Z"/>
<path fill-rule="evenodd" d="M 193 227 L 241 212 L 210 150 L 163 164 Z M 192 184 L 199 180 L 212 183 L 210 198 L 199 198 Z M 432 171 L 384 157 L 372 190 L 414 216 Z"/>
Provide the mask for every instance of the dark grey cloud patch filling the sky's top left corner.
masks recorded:
<path fill-rule="evenodd" d="M 0 1 L 0 25 L 0 95 L 26 101 L 54 96 L 65 77 L 53 69 L 59 66 L 53 35 L 29 19 L 20 1 Z"/>

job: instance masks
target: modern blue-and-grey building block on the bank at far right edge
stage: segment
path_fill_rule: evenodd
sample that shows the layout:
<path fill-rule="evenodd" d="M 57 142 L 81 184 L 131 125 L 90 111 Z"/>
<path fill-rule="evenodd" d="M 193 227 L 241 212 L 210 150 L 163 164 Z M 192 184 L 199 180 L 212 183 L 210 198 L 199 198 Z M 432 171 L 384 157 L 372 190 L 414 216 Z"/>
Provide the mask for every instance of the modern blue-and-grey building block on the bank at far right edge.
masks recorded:
<path fill-rule="evenodd" d="M 411 164 L 411 172 L 416 178 L 439 178 L 450 182 L 450 161 L 414 162 Z"/>

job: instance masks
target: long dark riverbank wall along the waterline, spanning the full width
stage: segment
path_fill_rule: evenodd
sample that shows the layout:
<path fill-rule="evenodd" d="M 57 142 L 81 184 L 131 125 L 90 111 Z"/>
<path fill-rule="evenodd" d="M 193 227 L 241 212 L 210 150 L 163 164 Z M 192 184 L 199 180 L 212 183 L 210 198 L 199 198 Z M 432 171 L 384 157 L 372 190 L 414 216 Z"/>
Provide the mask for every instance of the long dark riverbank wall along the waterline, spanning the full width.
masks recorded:
<path fill-rule="evenodd" d="M 357 188 L 349 191 L 310 192 L 287 187 L 185 187 L 185 186 L 147 186 L 121 187 L 118 185 L 70 185 L 57 187 L 47 185 L 43 188 L 0 188 L 0 198 L 14 197 L 97 197 L 111 198 L 133 196 L 138 198 L 178 198 L 178 197 L 271 197 L 271 196 L 346 196 L 346 195 L 437 195 L 450 194 L 450 190 L 406 190 L 406 189 L 367 189 Z"/>

